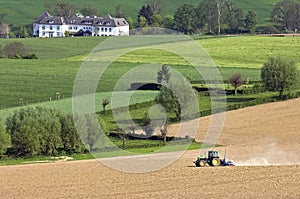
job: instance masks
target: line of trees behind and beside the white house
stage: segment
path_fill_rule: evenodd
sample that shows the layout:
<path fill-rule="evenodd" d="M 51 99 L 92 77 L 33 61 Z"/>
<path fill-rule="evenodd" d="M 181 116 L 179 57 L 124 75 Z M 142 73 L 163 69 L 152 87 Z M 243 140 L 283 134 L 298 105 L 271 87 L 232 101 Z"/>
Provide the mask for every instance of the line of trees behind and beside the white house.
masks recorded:
<path fill-rule="evenodd" d="M 270 13 L 272 24 L 258 25 L 255 10 L 243 10 L 233 0 L 200 0 L 198 5 L 183 4 L 173 15 L 167 15 L 164 0 L 145 0 L 137 12 L 136 19 L 127 16 L 120 4 L 115 7 L 114 16 L 125 18 L 130 29 L 162 27 L 177 30 L 184 34 L 236 34 L 236 33 L 295 33 L 300 29 L 300 1 L 282 0 L 275 4 Z M 79 9 L 66 2 L 44 3 L 44 9 L 52 15 L 71 17 L 76 12 L 85 16 L 101 16 L 95 6 Z M 0 13 L 0 37 L 30 37 L 32 24 L 6 24 L 7 13 Z"/>

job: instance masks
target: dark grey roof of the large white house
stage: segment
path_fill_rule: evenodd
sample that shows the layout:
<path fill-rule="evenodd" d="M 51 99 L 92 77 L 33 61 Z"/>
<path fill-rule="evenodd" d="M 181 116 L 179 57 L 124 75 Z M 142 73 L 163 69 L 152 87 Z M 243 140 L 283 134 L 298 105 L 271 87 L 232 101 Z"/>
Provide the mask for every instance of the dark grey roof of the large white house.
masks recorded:
<path fill-rule="evenodd" d="M 81 14 L 76 14 L 71 18 L 65 19 L 64 17 L 51 16 L 48 12 L 44 12 L 39 16 L 35 23 L 38 24 L 74 24 L 74 25 L 93 25 L 93 26 L 106 26 L 106 27 L 117 27 L 128 25 L 124 18 L 113 18 L 110 14 L 103 17 L 97 16 L 83 16 Z"/>

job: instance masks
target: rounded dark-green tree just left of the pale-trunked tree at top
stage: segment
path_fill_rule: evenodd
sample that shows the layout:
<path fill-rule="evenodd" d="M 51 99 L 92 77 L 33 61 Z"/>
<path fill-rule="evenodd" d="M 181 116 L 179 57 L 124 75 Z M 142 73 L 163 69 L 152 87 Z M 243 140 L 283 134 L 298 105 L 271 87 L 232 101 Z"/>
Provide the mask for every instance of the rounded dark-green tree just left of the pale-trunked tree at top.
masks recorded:
<path fill-rule="evenodd" d="M 192 4 L 180 6 L 174 15 L 175 28 L 184 34 L 194 32 L 194 20 L 196 18 L 195 8 Z"/>

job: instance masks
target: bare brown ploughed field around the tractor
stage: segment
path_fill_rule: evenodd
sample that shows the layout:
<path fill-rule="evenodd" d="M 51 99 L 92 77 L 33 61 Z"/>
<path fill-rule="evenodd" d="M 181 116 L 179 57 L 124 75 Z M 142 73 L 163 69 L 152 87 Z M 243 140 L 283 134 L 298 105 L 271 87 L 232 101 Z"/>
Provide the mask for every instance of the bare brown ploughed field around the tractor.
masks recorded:
<path fill-rule="evenodd" d="M 198 140 L 209 120 L 200 119 Z M 227 113 L 218 143 L 239 165 L 252 166 L 196 168 L 198 150 L 144 174 L 95 160 L 7 166 L 0 167 L 0 198 L 300 198 L 299 133 L 300 99 L 250 107 Z"/>

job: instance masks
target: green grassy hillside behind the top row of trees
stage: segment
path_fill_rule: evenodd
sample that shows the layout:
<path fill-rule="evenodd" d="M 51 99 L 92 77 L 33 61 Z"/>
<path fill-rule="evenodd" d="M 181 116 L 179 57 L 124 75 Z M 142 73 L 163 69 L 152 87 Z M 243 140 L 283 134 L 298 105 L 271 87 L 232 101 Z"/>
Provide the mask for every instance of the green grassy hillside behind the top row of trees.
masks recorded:
<path fill-rule="evenodd" d="M 254 9 L 259 15 L 259 24 L 268 23 L 268 19 L 272 10 L 272 6 L 280 0 L 234 0 L 236 4 L 245 12 L 249 9 Z M 0 12 L 7 12 L 6 22 L 8 24 L 31 24 L 35 17 L 39 16 L 44 11 L 43 0 L 3 0 L 0 1 Z M 115 14 L 115 7 L 117 4 L 121 5 L 121 9 L 130 16 L 134 21 L 140 7 L 145 3 L 144 0 L 85 0 L 72 1 L 64 0 L 75 4 L 78 11 L 88 5 L 96 6 L 103 14 Z M 173 15 L 175 10 L 184 3 L 199 4 L 199 0 L 165 0 L 167 3 L 166 13 Z"/>

